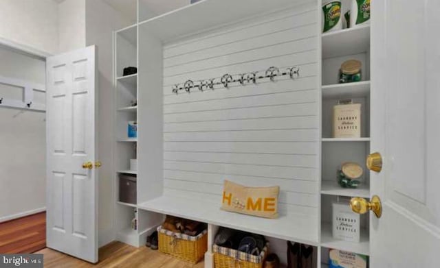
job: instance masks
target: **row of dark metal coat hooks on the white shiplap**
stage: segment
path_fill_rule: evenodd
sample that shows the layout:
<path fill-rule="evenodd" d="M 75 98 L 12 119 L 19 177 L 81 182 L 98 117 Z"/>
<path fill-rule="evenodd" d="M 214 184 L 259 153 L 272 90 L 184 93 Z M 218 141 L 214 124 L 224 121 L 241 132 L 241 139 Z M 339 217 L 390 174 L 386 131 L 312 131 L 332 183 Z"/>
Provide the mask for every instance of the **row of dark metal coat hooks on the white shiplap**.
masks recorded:
<path fill-rule="evenodd" d="M 259 71 L 250 72 L 250 73 L 241 73 L 239 75 L 230 75 L 226 73 L 222 77 L 212 78 L 208 80 L 200 80 L 200 81 L 192 81 L 187 80 L 184 84 L 175 84 L 173 86 L 172 92 L 176 95 L 179 94 L 179 91 L 186 91 L 186 93 L 190 93 L 192 88 L 197 88 L 199 91 L 203 91 L 206 89 L 214 90 L 216 86 L 222 86 L 223 88 L 229 88 L 232 84 L 241 84 L 245 86 L 246 84 L 256 84 L 258 80 L 269 78 L 270 81 L 275 82 L 276 77 L 286 76 L 293 80 L 299 77 L 300 75 L 300 67 L 293 66 L 286 69 L 286 71 L 282 72 L 275 66 L 269 67 L 264 73 Z"/>

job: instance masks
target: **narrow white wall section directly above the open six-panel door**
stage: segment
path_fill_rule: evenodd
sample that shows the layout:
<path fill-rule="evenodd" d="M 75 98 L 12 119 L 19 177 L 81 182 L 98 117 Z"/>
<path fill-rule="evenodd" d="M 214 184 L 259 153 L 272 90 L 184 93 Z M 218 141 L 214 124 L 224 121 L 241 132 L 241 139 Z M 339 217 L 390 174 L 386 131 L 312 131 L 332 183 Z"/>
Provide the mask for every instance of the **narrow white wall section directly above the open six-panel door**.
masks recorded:
<path fill-rule="evenodd" d="M 85 0 L 65 0 L 58 5 L 58 51 L 85 47 Z M 100 13 L 96 13 L 98 16 Z"/>

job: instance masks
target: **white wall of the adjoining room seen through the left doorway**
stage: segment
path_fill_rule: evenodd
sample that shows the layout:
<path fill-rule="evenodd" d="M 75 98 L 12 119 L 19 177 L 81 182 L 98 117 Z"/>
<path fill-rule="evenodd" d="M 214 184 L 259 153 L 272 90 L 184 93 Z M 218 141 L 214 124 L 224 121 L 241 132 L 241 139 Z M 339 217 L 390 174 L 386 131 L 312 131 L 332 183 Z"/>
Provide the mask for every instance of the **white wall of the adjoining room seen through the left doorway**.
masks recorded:
<path fill-rule="evenodd" d="M 45 62 L 0 47 L 0 75 L 45 84 Z M 0 85 L 0 97 L 22 90 Z M 40 101 L 44 100 L 44 94 Z M 0 221 L 45 208 L 45 114 L 0 108 Z"/>

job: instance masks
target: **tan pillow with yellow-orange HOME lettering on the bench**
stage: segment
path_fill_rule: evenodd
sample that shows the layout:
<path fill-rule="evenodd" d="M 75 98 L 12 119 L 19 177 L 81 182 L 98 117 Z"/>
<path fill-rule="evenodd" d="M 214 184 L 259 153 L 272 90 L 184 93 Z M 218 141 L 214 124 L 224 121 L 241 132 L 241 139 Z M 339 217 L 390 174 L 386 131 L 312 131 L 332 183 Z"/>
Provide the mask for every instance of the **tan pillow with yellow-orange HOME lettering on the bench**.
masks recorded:
<path fill-rule="evenodd" d="M 276 219 L 279 186 L 247 187 L 225 180 L 221 209 L 247 215 Z"/>

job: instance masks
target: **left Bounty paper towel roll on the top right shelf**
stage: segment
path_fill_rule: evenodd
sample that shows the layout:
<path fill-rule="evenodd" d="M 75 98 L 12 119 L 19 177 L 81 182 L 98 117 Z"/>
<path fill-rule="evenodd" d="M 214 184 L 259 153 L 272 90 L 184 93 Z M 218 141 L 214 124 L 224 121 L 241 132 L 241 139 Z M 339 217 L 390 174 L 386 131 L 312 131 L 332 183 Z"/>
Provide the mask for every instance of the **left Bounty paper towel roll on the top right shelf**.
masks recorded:
<path fill-rule="evenodd" d="M 322 0 L 322 32 L 342 29 L 341 0 Z"/>

